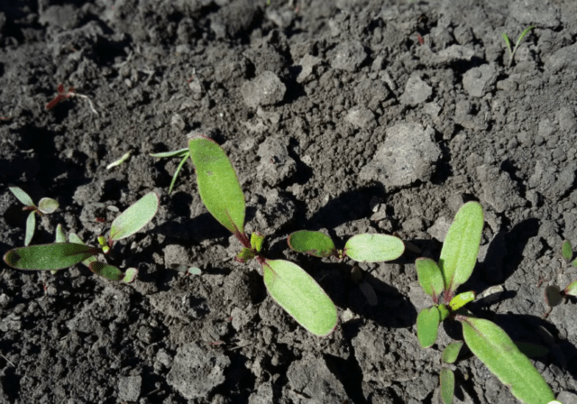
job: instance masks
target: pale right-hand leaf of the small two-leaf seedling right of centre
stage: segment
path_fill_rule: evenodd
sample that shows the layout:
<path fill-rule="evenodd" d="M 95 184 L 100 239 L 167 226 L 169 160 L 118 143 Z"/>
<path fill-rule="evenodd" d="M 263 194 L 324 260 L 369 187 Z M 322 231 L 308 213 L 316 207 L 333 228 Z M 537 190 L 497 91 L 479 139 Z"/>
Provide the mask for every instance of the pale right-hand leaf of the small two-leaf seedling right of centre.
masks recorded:
<path fill-rule="evenodd" d="M 344 244 L 344 253 L 356 262 L 392 261 L 404 251 L 405 244 L 387 234 L 357 234 Z"/>

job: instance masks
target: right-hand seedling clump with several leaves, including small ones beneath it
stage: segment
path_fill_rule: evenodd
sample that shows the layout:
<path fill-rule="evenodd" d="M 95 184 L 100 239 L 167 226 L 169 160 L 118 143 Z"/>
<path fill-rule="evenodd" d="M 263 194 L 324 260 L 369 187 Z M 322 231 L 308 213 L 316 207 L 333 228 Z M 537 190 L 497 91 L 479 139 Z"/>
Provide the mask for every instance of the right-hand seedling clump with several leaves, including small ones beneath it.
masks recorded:
<path fill-rule="evenodd" d="M 456 289 L 471 277 L 477 262 L 483 223 L 481 204 L 466 203 L 449 228 L 438 264 L 430 258 L 417 259 L 418 281 L 434 302 L 417 316 L 419 344 L 423 348 L 432 346 L 441 322 L 457 320 L 463 325 L 464 343 L 517 399 L 527 404 L 550 403 L 554 401 L 553 391 L 507 333 L 489 320 L 473 317 L 463 308 L 475 298 L 474 293 L 467 291 L 455 296 Z M 462 346 L 463 342 L 448 344 L 444 362 L 454 362 Z M 454 392 L 453 371 L 443 369 L 440 379 L 441 398 L 444 404 L 450 404 Z"/>

